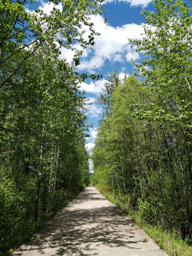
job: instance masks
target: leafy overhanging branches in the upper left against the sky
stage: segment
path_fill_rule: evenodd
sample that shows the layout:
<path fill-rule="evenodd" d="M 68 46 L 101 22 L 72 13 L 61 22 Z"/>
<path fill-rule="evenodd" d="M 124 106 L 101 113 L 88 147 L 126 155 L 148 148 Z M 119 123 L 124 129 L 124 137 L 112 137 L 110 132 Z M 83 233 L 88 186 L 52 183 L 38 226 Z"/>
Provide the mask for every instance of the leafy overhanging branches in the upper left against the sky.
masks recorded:
<path fill-rule="evenodd" d="M 33 0 L 30 3 L 33 4 Z M 41 9 L 29 12 L 26 0 L 1 1 L 0 87 L 11 85 L 11 78 L 21 64 L 39 47 L 50 48 L 53 55 L 58 54 L 60 47 L 75 50 L 73 60 L 78 65 L 82 50 L 95 44 L 94 36 L 99 33 L 93 29 L 89 15 L 102 14 L 102 1 L 53 0 L 49 3 L 54 6 L 48 15 Z M 90 32 L 87 38 L 84 37 L 85 28 Z M 82 50 L 75 48 L 77 43 Z"/>

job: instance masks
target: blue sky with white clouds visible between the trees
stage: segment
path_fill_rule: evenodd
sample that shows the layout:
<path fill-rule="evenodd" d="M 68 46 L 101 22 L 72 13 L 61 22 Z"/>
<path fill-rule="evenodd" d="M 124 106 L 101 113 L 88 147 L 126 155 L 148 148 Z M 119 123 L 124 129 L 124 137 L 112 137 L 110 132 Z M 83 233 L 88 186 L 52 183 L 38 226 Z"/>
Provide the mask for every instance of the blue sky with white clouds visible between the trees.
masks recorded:
<path fill-rule="evenodd" d="M 186 0 L 186 3 L 191 6 L 189 0 Z M 47 13 L 53 8 L 53 4 L 48 5 L 47 1 L 43 0 L 36 1 L 35 8 L 37 6 Z M 58 8 L 62 8 L 61 5 Z M 88 150 L 92 149 L 97 137 L 97 122 L 102 107 L 95 103 L 95 99 L 102 93 L 103 85 L 107 82 L 107 73 L 115 68 L 119 71 L 120 78 L 124 78 L 124 72 L 129 75 L 133 70 L 131 59 L 142 62 L 142 54 L 136 53 L 135 48 L 130 47 L 128 38 L 142 38 L 142 9 L 155 11 L 151 0 L 106 0 L 103 8 L 106 10 L 105 16 L 90 16 L 95 30 L 100 32 L 101 36 L 95 36 L 95 46 L 84 51 L 77 68 L 79 73 L 95 73 L 103 77 L 98 81 L 86 80 L 80 85 L 81 90 L 85 90 L 89 102 L 92 102 L 92 105 L 86 106 L 88 124 L 93 123 L 90 137 L 86 140 Z M 29 9 L 33 11 L 34 7 Z M 107 23 L 104 23 L 104 18 L 107 18 Z M 68 63 L 72 63 L 73 53 L 63 48 L 60 58 L 66 58 Z"/>

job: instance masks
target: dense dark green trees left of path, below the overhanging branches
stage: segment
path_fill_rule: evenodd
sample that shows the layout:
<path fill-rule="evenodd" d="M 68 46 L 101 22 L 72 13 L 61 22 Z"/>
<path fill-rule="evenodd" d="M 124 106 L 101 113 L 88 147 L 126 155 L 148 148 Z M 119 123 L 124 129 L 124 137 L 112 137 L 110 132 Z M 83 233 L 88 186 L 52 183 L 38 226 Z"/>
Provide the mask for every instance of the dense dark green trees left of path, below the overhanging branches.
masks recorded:
<path fill-rule="evenodd" d="M 39 48 L 14 74 L 17 90 L 1 95 L 1 251 L 66 203 L 63 188 L 89 182 L 80 77 L 65 61 L 46 57 Z"/>

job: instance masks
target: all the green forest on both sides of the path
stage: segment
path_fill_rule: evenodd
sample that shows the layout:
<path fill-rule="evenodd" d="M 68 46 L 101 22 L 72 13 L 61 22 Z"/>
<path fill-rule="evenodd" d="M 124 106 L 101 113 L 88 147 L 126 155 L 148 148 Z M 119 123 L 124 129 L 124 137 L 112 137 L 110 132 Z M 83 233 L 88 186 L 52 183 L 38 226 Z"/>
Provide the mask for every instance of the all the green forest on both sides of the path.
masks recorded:
<path fill-rule="evenodd" d="M 89 16 L 105 14 L 102 1 L 50 0 L 50 14 L 29 11 L 33 0 L 0 1 L 0 255 L 90 183 L 80 82 L 102 75 L 75 68 L 100 35 Z M 191 245 L 191 9 L 181 0 L 154 8 L 142 11 L 142 39 L 129 38 L 144 60 L 124 79 L 114 69 L 97 99 L 91 181 Z M 62 48 L 74 52 L 72 65 Z"/>

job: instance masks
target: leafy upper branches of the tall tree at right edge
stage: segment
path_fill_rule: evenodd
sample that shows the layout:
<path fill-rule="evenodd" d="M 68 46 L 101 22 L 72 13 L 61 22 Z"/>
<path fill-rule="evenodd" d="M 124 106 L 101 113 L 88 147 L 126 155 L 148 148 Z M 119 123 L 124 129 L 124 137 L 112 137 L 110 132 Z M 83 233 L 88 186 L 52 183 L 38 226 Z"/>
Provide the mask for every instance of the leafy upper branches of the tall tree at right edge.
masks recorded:
<path fill-rule="evenodd" d="M 142 64 L 134 62 L 134 68 L 156 100 L 134 105 L 137 110 L 134 114 L 191 127 L 191 8 L 181 0 L 156 0 L 154 7 L 156 13 L 142 12 L 145 18 L 142 40 L 130 41 L 147 57 Z"/>

